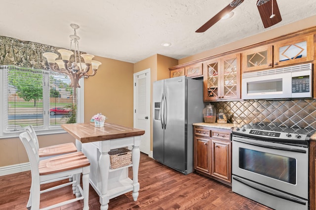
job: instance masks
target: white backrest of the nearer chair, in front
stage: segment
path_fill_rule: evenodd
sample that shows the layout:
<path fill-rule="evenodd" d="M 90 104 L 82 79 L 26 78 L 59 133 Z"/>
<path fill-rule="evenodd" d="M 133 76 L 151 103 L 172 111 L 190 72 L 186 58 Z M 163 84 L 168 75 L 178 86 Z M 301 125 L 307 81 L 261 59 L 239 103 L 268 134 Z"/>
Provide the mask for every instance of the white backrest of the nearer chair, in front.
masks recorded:
<path fill-rule="evenodd" d="M 36 148 L 33 139 L 31 137 L 31 134 L 29 131 L 25 131 L 19 135 L 21 142 L 24 145 L 24 148 L 26 152 L 28 153 L 29 161 L 31 164 L 31 171 L 32 174 L 35 172 L 36 174 L 39 174 L 39 150 Z"/>

